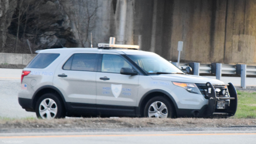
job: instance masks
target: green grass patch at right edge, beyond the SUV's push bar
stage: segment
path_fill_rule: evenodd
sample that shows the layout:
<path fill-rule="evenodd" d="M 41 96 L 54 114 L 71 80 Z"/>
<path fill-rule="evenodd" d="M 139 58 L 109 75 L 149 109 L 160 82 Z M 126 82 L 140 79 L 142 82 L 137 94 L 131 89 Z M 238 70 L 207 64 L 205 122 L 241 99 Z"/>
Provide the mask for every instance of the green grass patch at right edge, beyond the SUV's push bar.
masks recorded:
<path fill-rule="evenodd" d="M 256 118 L 256 92 L 238 92 L 238 108 L 234 118 Z"/>

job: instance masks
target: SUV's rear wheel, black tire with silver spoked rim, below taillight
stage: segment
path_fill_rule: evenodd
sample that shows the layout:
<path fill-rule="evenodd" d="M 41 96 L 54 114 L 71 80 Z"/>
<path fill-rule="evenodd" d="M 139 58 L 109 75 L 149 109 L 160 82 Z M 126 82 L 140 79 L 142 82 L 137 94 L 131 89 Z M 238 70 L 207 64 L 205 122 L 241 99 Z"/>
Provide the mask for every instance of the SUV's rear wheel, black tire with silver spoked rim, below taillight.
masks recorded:
<path fill-rule="evenodd" d="M 44 101 L 44 103 L 41 104 L 42 101 Z M 49 105 L 50 101 L 52 104 L 51 106 Z M 47 105 L 49 105 L 49 107 Z M 39 112 L 39 108 L 41 110 L 44 110 L 45 107 L 47 113 L 41 116 L 40 113 L 43 114 L 44 112 Z M 55 94 L 47 93 L 42 95 L 36 102 L 36 116 L 42 119 L 64 118 L 66 116 L 65 108 L 63 107 L 62 102 Z"/>

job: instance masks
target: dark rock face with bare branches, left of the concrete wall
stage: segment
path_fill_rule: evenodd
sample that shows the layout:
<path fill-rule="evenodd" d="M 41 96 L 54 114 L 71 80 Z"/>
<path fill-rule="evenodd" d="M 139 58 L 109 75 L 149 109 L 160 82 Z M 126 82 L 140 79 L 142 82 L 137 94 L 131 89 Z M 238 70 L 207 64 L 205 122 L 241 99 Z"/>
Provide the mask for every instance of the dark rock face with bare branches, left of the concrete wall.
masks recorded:
<path fill-rule="evenodd" d="M 30 53 L 26 39 L 29 40 L 32 51 L 62 46 L 77 47 L 70 18 L 59 1 L 20 0 L 16 5 L 14 14 L 9 17 L 14 20 L 10 26 L 6 25 L 9 35 L 5 52 Z M 18 35 L 18 38 L 11 35 Z"/>

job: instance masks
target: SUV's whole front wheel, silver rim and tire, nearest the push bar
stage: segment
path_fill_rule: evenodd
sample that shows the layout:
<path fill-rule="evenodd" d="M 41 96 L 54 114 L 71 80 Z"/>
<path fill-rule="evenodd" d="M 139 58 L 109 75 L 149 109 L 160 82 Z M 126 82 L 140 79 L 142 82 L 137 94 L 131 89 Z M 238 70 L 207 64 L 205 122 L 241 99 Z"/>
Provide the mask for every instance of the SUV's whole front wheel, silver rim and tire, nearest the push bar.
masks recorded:
<path fill-rule="evenodd" d="M 173 118 L 172 105 L 163 96 L 156 96 L 147 101 L 144 109 L 145 117 Z"/>

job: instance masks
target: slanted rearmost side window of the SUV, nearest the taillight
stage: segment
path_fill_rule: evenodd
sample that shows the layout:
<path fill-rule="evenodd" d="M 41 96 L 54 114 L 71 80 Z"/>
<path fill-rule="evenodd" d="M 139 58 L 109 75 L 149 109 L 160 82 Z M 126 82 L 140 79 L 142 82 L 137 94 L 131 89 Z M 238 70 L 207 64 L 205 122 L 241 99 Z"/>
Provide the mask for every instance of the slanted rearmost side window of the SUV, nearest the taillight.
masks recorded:
<path fill-rule="evenodd" d="M 26 68 L 44 69 L 49 66 L 58 56 L 59 53 L 39 53 Z"/>

